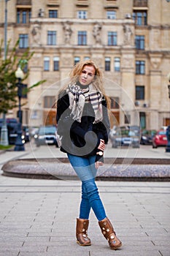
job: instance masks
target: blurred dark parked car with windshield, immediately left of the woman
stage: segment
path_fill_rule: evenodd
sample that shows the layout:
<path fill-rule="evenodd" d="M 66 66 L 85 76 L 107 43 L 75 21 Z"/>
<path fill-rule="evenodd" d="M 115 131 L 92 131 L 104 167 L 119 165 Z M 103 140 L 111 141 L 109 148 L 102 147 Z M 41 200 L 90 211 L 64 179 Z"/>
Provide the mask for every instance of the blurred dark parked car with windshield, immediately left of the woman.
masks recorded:
<path fill-rule="evenodd" d="M 55 138 L 56 130 L 57 128 L 55 126 L 39 127 L 38 132 L 34 135 L 36 146 L 47 144 L 58 146 L 58 143 Z"/>

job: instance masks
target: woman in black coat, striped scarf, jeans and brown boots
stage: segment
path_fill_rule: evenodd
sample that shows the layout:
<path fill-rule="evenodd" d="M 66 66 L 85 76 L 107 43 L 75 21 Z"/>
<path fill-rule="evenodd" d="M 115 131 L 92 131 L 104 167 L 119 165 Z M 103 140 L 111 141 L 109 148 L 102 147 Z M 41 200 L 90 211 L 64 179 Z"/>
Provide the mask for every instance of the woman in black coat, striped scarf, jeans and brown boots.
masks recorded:
<path fill-rule="evenodd" d="M 105 144 L 108 141 L 108 102 L 101 71 L 96 64 L 90 60 L 79 62 L 70 73 L 69 84 L 58 94 L 57 124 L 58 135 L 62 137 L 61 151 L 66 152 L 82 181 L 77 244 L 91 244 L 88 219 L 92 208 L 110 248 L 117 249 L 122 243 L 107 218 L 95 182 L 97 169 L 103 165 Z"/>

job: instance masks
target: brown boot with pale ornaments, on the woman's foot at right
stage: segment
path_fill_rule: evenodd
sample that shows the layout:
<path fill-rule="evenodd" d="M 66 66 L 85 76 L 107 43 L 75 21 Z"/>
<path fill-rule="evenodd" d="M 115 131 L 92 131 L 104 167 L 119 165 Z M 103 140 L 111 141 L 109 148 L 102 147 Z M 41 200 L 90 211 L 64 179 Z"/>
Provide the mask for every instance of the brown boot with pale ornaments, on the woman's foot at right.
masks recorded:
<path fill-rule="evenodd" d="M 102 234 L 107 239 L 111 249 L 117 249 L 122 246 L 122 242 L 117 238 L 109 219 L 102 219 L 100 222 L 98 222 L 98 224 L 101 228 Z"/>

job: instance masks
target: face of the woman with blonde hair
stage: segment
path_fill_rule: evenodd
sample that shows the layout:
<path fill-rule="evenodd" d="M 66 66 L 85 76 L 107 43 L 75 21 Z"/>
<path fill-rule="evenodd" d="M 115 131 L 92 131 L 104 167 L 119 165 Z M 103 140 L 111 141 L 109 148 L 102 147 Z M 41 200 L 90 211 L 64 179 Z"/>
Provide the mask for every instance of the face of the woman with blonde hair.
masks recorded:
<path fill-rule="evenodd" d="M 82 86 L 88 86 L 93 81 L 95 72 L 96 70 L 93 66 L 85 65 L 85 67 L 83 67 L 79 77 L 79 82 Z"/>

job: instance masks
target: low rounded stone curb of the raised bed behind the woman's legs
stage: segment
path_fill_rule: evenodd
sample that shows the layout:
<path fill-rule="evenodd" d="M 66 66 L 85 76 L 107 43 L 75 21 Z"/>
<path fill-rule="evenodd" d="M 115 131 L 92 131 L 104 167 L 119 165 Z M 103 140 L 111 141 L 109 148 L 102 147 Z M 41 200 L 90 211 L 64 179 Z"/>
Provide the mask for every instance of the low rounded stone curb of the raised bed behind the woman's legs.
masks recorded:
<path fill-rule="evenodd" d="M 169 159 L 106 158 L 98 169 L 100 181 L 170 181 Z M 78 180 L 67 158 L 14 159 L 5 163 L 4 176 Z"/>

